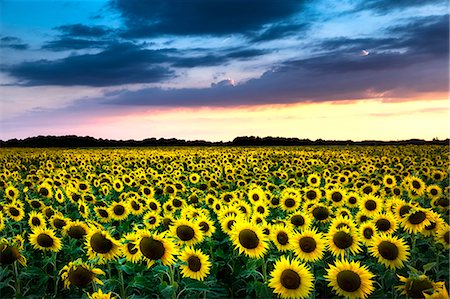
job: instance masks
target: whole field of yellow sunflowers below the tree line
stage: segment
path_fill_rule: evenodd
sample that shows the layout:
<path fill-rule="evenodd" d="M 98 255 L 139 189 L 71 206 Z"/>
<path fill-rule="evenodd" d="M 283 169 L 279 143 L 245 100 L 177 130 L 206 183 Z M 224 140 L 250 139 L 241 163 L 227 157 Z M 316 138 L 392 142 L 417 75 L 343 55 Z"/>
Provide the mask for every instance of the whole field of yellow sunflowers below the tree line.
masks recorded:
<path fill-rule="evenodd" d="M 448 298 L 448 150 L 2 149 L 2 297 Z"/>

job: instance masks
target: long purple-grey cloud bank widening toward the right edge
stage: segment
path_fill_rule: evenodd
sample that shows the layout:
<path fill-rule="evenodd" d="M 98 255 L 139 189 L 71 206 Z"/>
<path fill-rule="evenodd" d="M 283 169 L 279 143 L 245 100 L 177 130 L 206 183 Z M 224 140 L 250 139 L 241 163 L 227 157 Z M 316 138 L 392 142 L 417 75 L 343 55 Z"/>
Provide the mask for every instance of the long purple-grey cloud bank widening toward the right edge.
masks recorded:
<path fill-rule="evenodd" d="M 235 86 L 222 81 L 203 89 L 123 90 L 110 95 L 104 102 L 149 106 L 235 106 L 361 99 L 378 94 L 407 98 L 420 92 L 446 92 L 449 80 L 448 27 L 447 34 L 441 35 L 442 28 L 448 24 L 446 19 L 447 16 L 418 18 L 415 22 L 390 28 L 390 32 L 397 33 L 393 38 L 334 41 L 340 46 L 333 51 L 286 61 L 260 78 Z M 430 39 L 424 42 L 428 36 Z M 367 43 L 377 50 L 366 56 L 360 51 L 349 51 Z"/>

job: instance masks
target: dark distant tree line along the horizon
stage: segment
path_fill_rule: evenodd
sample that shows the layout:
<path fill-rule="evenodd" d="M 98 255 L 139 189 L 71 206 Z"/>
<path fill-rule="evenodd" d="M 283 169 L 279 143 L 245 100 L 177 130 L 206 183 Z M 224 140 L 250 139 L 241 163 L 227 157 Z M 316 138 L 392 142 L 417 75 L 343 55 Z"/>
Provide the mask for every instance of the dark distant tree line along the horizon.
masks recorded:
<path fill-rule="evenodd" d="M 37 136 L 25 139 L 10 139 L 7 141 L 0 140 L 0 147 L 146 147 L 146 146 L 320 146 L 320 145 L 449 145 L 449 139 L 425 141 L 422 139 L 409 139 L 401 141 L 352 141 L 352 140 L 322 140 L 315 141 L 310 139 L 299 138 L 283 138 L 283 137 L 254 137 L 242 136 L 236 137 L 231 142 L 210 142 L 204 140 L 184 140 L 176 138 L 148 138 L 144 140 L 111 140 L 97 139 L 89 136 Z"/>

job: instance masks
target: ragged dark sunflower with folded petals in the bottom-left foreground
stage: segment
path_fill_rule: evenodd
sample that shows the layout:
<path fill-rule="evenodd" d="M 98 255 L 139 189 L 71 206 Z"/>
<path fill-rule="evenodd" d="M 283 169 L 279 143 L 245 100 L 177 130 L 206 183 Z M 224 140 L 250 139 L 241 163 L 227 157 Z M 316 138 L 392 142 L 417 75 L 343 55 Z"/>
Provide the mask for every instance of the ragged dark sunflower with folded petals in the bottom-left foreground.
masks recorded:
<path fill-rule="evenodd" d="M 81 259 L 77 259 L 65 265 L 59 271 L 59 275 L 61 275 L 61 279 L 64 281 L 64 288 L 68 289 L 71 285 L 83 288 L 91 282 L 103 285 L 103 282 L 97 278 L 97 275 L 105 275 L 105 272 L 83 263 Z"/>

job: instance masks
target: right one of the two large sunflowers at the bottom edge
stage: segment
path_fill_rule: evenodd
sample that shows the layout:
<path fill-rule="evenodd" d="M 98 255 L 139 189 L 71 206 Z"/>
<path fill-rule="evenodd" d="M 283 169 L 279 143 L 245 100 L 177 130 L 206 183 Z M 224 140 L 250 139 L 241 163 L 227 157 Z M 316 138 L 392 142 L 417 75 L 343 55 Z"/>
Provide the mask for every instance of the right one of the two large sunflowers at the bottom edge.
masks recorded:
<path fill-rule="evenodd" d="M 336 261 L 324 275 L 328 286 L 338 296 L 349 299 L 367 298 L 375 289 L 373 277 L 367 266 L 361 265 L 359 261 L 347 260 Z"/>

